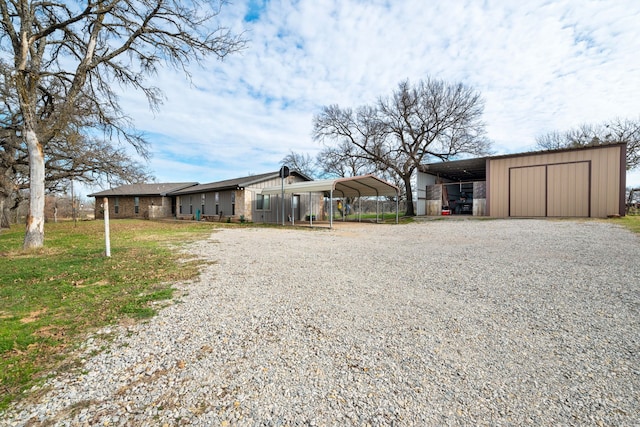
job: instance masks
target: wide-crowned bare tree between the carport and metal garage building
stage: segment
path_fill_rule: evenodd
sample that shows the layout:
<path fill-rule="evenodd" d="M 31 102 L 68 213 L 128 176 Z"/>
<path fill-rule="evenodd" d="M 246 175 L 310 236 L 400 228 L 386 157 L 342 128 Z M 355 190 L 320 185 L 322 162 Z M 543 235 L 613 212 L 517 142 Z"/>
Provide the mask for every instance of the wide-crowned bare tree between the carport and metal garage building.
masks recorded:
<path fill-rule="evenodd" d="M 337 105 L 314 117 L 314 139 L 353 146 L 352 155 L 404 183 L 406 215 L 413 216 L 411 177 L 427 158 L 487 154 L 480 95 L 463 84 L 427 79 L 398 85 L 391 97 L 355 111 Z"/>

